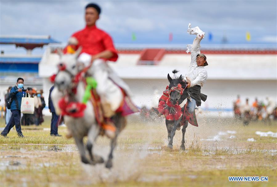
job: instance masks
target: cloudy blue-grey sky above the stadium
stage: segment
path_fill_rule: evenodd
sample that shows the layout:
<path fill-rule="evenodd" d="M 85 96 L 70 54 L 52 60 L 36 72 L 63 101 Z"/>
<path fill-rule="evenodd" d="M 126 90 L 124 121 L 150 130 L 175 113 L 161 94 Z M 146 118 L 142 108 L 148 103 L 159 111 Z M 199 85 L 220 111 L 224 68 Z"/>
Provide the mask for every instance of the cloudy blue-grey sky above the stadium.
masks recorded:
<path fill-rule="evenodd" d="M 66 42 L 82 29 L 92 1 L 0 1 L 1 35 L 51 35 Z M 211 32 L 203 44 L 276 46 L 276 1 L 93 1 L 102 13 L 97 26 L 116 44 L 189 44 L 188 23 Z M 251 41 L 246 41 L 246 31 Z M 169 33 L 173 40 L 169 41 Z M 136 40 L 132 40 L 132 33 Z M 1 45 L 1 48 L 4 48 Z"/>

